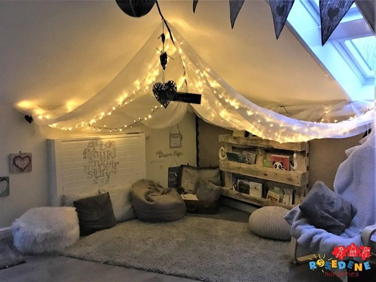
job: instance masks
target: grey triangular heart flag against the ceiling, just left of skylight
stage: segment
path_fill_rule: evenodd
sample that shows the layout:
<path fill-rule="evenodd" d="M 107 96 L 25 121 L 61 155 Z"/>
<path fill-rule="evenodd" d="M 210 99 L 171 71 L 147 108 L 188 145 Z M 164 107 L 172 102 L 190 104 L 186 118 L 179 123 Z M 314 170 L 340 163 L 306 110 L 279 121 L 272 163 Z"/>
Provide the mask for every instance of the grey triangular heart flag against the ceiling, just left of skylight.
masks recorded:
<path fill-rule="evenodd" d="M 275 37 L 279 37 L 285 26 L 287 17 L 291 11 L 294 0 L 270 0 L 270 9 L 272 10 Z"/>

